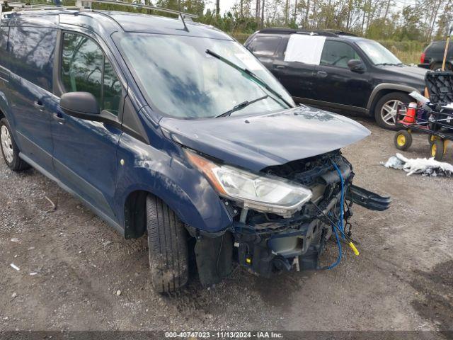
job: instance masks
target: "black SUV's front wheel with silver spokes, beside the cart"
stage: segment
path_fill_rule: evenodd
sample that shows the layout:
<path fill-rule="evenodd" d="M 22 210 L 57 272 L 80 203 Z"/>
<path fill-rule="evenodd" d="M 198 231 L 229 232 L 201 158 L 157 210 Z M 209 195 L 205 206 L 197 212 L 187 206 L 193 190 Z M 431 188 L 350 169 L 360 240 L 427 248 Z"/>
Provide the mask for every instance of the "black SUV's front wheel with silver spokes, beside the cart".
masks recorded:
<path fill-rule="evenodd" d="M 391 92 L 383 96 L 374 106 L 374 118 L 376 123 L 387 130 L 398 130 L 396 126 L 396 110 L 398 105 L 408 105 L 412 98 L 401 92 Z M 404 111 L 401 111 L 404 112 Z"/>

